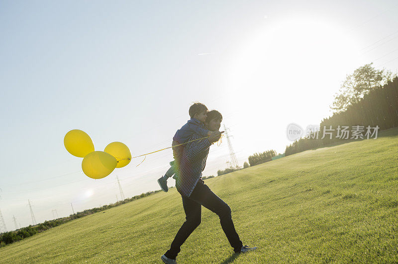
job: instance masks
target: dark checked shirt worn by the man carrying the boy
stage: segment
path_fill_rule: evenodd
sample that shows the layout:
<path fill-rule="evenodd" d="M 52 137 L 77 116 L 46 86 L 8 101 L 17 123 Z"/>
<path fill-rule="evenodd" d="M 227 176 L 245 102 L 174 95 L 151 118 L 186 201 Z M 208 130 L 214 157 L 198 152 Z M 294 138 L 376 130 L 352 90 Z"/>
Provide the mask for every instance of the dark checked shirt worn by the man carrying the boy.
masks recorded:
<path fill-rule="evenodd" d="M 195 133 L 188 141 L 201 137 L 203 136 Z M 176 180 L 176 188 L 180 194 L 187 197 L 191 196 L 206 166 L 208 150 L 211 144 L 207 138 L 204 138 L 184 145 Z"/>

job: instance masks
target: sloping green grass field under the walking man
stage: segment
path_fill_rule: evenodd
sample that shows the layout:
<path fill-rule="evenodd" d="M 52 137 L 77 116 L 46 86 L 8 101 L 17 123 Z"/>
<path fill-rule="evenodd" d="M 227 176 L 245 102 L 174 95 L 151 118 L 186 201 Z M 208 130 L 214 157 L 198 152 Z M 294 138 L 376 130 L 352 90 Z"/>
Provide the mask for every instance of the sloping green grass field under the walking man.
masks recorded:
<path fill-rule="evenodd" d="M 217 215 L 178 263 L 398 262 L 398 129 L 205 180 L 229 204 L 244 244 L 234 255 Z M 0 249 L 1 263 L 161 263 L 185 220 L 175 188 Z"/>

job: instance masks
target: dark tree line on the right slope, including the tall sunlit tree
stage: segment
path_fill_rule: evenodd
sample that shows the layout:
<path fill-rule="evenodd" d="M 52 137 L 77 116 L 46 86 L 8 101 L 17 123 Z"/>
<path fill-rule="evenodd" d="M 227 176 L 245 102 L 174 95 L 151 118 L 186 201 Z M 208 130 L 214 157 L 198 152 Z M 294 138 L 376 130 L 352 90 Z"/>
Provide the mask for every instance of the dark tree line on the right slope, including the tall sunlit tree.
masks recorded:
<path fill-rule="evenodd" d="M 376 86 L 381 83 L 383 85 Z M 287 146 L 286 156 L 353 138 L 352 135 L 348 138 L 339 136 L 339 126 L 363 130 L 360 138 L 367 138 L 364 135 L 368 126 L 372 132 L 376 127 L 379 131 L 397 127 L 398 77 L 388 71 L 376 70 L 372 64 L 362 66 L 352 75 L 347 75 L 331 109 L 333 115 L 321 121 L 319 131 L 311 132 Z M 327 134 L 330 128 L 334 129 L 331 135 Z M 324 133 L 326 136 L 322 138 Z"/>

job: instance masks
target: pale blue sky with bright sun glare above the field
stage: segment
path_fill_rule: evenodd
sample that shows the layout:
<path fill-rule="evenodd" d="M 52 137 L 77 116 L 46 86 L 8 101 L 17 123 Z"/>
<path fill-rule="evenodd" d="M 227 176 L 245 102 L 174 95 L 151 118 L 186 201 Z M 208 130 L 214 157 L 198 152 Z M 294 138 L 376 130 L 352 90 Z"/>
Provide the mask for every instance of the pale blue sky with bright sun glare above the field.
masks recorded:
<path fill-rule="evenodd" d="M 160 190 L 170 149 L 109 176 L 82 173 L 65 134 L 133 156 L 171 146 L 199 101 L 223 115 L 239 165 L 319 125 L 346 74 L 398 71 L 398 3 L 0 0 L 0 210 L 8 231 Z M 230 160 L 210 147 L 203 176 Z M 173 179 L 169 186 L 175 185 Z M 117 196 L 117 197 L 116 197 Z M 53 215 L 56 210 L 57 214 Z M 0 231 L 4 227 L 0 223 Z"/>

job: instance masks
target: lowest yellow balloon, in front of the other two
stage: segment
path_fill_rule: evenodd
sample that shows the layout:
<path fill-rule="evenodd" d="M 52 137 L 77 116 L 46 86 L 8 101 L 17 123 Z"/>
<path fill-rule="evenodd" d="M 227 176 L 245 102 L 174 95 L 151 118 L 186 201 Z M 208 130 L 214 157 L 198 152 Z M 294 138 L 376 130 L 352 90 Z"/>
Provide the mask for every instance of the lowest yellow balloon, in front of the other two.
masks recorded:
<path fill-rule="evenodd" d="M 103 151 L 93 151 L 87 154 L 82 161 L 84 174 L 93 179 L 108 176 L 116 168 L 116 165 L 116 159 Z"/>

